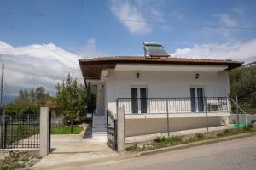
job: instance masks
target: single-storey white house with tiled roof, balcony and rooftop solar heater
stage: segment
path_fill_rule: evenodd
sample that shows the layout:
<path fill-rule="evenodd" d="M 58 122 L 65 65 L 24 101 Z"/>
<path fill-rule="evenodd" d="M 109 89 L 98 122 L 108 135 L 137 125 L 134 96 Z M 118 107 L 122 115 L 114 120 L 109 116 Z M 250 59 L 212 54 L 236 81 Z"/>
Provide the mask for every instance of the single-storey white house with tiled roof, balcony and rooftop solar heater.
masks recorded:
<path fill-rule="evenodd" d="M 125 111 L 125 137 L 228 123 L 228 72 L 241 62 L 172 58 L 159 43 L 144 43 L 144 56 L 80 59 L 84 81 L 96 85 L 94 132 L 105 131 L 106 111 Z M 102 125 L 102 126 L 101 126 Z M 98 129 L 98 130 L 97 130 Z"/>

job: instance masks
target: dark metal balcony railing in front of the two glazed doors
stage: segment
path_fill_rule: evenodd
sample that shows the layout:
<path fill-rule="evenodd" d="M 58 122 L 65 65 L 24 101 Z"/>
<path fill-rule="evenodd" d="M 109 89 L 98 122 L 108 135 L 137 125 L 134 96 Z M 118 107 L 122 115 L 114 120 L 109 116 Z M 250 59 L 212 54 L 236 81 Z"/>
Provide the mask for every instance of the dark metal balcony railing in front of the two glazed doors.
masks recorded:
<path fill-rule="evenodd" d="M 228 97 L 118 98 L 117 106 L 125 114 L 230 112 Z"/>

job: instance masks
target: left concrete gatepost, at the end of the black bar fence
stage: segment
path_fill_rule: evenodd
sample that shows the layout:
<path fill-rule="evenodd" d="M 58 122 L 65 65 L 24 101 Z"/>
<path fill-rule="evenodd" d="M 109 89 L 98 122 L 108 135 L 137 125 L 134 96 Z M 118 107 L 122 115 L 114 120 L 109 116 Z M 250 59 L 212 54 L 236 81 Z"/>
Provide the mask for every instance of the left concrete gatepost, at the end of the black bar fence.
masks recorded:
<path fill-rule="evenodd" d="M 49 154 L 49 108 L 40 108 L 40 156 Z"/>

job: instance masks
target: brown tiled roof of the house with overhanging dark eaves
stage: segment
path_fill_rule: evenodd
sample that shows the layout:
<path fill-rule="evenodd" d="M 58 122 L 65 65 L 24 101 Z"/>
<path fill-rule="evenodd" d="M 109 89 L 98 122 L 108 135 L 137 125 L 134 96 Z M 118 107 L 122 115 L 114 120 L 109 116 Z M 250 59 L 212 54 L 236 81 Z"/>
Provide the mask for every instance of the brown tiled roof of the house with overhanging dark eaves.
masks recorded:
<path fill-rule="evenodd" d="M 144 56 L 114 56 L 79 59 L 84 77 L 99 77 L 102 69 L 114 68 L 116 64 L 174 64 L 174 65 L 226 65 L 228 70 L 240 67 L 242 62 L 220 59 L 150 58 Z"/>

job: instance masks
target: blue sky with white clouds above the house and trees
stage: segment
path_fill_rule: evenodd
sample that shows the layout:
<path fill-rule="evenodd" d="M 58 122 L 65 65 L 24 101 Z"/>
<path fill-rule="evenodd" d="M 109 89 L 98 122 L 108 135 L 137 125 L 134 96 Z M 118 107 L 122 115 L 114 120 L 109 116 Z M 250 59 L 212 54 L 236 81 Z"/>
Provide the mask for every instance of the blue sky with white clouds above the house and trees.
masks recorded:
<path fill-rule="evenodd" d="M 143 42 L 162 43 L 171 57 L 251 62 L 255 8 L 253 0 L 0 0 L 4 99 L 38 85 L 55 94 L 68 72 L 83 82 L 78 59 L 143 55 Z"/>

